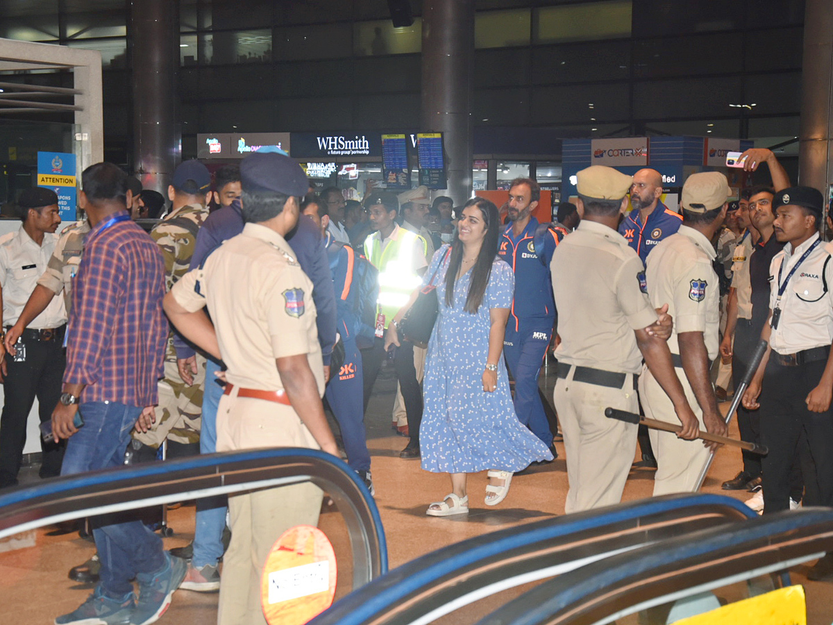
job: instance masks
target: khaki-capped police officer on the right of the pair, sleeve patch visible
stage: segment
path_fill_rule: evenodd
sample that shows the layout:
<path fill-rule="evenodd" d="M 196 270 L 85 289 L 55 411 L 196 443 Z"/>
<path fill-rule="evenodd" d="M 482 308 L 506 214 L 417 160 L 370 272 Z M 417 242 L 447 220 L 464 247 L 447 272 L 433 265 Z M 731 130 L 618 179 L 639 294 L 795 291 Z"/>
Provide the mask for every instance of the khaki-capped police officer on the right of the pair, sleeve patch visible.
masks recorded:
<path fill-rule="evenodd" d="M 646 267 L 651 303 L 667 303 L 674 318 L 668 347 L 698 428 L 721 435 L 726 435 L 726 422 L 709 378 L 720 343 L 721 298 L 711 239 L 726 218 L 728 195 L 729 184 L 722 173 L 691 174 L 682 188 L 683 223 L 676 234 L 654 248 Z M 651 371 L 641 377 L 639 392 L 646 417 L 676 423 L 674 406 Z M 659 430 L 651 430 L 650 435 L 658 465 L 654 495 L 693 491 L 716 446 L 681 440 Z"/>

